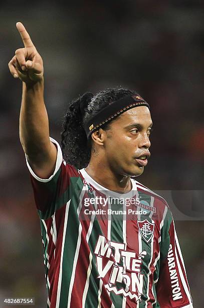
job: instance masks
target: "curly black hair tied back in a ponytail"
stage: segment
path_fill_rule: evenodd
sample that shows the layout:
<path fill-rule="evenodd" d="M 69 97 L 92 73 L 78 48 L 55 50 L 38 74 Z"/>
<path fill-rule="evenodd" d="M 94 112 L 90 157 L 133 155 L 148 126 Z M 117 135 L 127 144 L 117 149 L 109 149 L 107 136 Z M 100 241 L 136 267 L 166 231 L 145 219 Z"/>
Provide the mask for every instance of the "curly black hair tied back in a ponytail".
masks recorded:
<path fill-rule="evenodd" d="M 91 158 L 93 140 L 88 138 L 83 128 L 84 123 L 94 114 L 107 106 L 108 103 L 119 100 L 127 95 L 136 94 L 134 90 L 125 88 L 105 89 L 93 95 L 86 92 L 72 100 L 63 120 L 63 131 L 61 132 L 61 146 L 64 160 L 77 169 L 86 168 Z M 83 108 L 80 106 L 83 106 Z M 110 121 L 101 126 L 104 130 L 110 129 Z"/>

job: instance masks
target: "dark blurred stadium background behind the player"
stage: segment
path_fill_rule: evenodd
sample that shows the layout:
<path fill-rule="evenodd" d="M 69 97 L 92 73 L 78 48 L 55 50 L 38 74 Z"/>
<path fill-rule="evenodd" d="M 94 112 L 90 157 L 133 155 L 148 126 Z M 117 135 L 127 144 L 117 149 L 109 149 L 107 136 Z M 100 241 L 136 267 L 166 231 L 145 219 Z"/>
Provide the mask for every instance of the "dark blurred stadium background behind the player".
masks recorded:
<path fill-rule="evenodd" d="M 151 159 L 137 180 L 153 190 L 203 190 L 204 2 L 1 4 L 0 299 L 35 297 L 36 306 L 44 308 L 40 221 L 19 140 L 22 83 L 8 68 L 15 50 L 23 47 L 17 21 L 44 60 L 52 137 L 60 141 L 67 103 L 79 94 L 116 86 L 136 89 L 151 106 L 154 127 Z M 202 216 L 174 217 L 194 308 L 203 307 Z"/>

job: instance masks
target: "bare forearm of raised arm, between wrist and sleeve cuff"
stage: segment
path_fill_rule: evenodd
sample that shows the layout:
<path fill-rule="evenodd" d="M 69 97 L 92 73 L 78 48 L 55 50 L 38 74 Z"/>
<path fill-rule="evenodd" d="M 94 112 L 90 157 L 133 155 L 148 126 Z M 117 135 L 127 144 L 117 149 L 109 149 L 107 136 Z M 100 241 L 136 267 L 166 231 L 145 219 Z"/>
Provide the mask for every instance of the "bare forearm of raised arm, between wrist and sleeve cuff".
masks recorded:
<path fill-rule="evenodd" d="M 20 112 L 20 140 L 30 158 L 42 156 L 50 149 L 49 121 L 44 103 L 44 82 L 23 82 Z"/>

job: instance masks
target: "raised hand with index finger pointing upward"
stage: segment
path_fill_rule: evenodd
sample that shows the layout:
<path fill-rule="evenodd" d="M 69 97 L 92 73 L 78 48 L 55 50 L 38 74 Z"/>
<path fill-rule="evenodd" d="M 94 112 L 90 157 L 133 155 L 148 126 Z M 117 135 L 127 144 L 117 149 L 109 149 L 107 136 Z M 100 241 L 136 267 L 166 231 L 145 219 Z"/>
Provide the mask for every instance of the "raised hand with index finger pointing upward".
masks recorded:
<path fill-rule="evenodd" d="M 43 80 L 43 59 L 24 25 L 18 22 L 16 26 L 25 48 L 19 48 L 15 51 L 15 56 L 9 62 L 9 69 L 14 78 L 19 78 L 26 84 L 35 84 Z"/>

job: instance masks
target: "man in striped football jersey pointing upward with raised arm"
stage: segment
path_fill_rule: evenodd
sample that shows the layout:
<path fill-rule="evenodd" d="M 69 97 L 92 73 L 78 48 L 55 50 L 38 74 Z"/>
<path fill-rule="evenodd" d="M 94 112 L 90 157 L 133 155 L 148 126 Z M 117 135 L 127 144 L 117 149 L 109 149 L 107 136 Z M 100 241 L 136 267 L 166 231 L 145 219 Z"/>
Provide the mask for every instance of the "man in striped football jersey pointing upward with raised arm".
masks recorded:
<path fill-rule="evenodd" d="M 23 82 L 20 139 L 41 222 L 48 307 L 192 308 L 169 207 L 132 178 L 150 156 L 149 105 L 127 89 L 85 93 L 65 115 L 62 153 L 49 137 L 43 60 L 22 23 L 17 29 L 25 47 L 9 68 Z"/>

